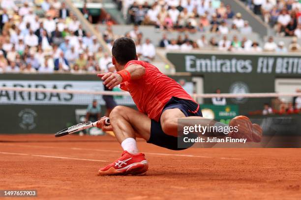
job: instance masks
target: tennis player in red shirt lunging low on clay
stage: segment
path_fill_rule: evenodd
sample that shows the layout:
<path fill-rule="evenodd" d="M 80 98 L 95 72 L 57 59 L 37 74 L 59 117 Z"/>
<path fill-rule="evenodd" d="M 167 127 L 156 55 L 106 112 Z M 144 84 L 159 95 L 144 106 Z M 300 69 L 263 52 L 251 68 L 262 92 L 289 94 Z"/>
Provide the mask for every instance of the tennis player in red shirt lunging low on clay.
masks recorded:
<path fill-rule="evenodd" d="M 128 91 L 138 110 L 116 106 L 110 114 L 111 125 L 105 125 L 101 118 L 97 127 L 104 131 L 114 131 L 123 148 L 121 157 L 112 164 L 99 169 L 98 175 L 139 175 L 149 168 L 145 155 L 139 152 L 136 137 L 170 150 L 178 148 L 178 119 L 202 118 L 200 105 L 188 95 L 172 78 L 162 74 L 150 63 L 138 61 L 135 43 L 132 39 L 121 37 L 112 48 L 113 64 L 117 73 L 98 74 L 109 89 L 120 84 Z M 248 141 L 261 140 L 254 131 L 251 121 L 244 116 L 236 118 L 242 122 L 241 137 Z M 234 123 L 232 123 L 234 124 Z"/>

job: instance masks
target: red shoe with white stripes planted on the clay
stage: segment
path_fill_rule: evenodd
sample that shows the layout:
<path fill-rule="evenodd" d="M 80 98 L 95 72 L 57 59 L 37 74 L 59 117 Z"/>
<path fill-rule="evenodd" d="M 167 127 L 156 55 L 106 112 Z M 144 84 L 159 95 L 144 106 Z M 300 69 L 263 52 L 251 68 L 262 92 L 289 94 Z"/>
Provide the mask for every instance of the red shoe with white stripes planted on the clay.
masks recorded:
<path fill-rule="evenodd" d="M 141 175 L 148 169 L 149 163 L 144 153 L 130 154 L 125 150 L 115 162 L 100 168 L 98 175 Z"/>

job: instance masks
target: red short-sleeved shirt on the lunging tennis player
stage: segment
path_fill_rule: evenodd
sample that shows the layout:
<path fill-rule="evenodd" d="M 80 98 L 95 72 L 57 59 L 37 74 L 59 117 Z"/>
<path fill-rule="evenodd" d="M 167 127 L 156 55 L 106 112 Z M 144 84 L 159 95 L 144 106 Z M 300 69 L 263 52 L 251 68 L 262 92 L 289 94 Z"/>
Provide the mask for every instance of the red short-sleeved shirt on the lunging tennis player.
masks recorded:
<path fill-rule="evenodd" d="M 131 60 L 126 63 L 125 68 L 132 64 L 145 67 L 146 73 L 139 79 L 122 84 L 120 88 L 130 93 L 138 110 L 148 115 L 150 119 L 158 122 L 163 107 L 172 97 L 193 100 L 179 83 L 162 74 L 150 63 Z"/>

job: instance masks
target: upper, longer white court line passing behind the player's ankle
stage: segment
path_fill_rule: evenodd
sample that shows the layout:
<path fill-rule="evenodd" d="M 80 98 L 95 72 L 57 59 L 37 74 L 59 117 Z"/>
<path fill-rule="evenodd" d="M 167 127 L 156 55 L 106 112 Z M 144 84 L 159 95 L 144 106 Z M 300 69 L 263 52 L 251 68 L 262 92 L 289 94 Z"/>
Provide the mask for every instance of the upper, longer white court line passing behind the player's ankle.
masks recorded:
<path fill-rule="evenodd" d="M 10 145 L 10 144 L 6 144 Z M 12 146 L 12 145 L 11 145 Z M 120 153 L 119 150 L 100 150 L 100 149 L 88 149 L 88 148 L 64 148 L 64 147 L 52 147 L 52 146 L 37 146 L 37 145 L 13 145 L 13 146 L 20 146 L 20 147 L 37 147 L 37 148 L 53 148 L 53 149 L 71 149 L 71 150 L 92 150 L 92 151 L 103 151 L 103 152 L 116 152 Z M 218 157 L 212 157 L 212 156 L 203 156 L 203 155 L 189 155 L 189 154 L 173 154 L 173 153 L 153 153 L 153 152 L 145 152 L 145 154 L 151 154 L 151 155 L 165 155 L 165 156 L 180 156 L 180 157 L 196 157 L 196 158 L 218 158 Z M 219 159 L 227 159 L 227 160 L 243 160 L 242 158 L 225 158 L 221 157 Z"/>

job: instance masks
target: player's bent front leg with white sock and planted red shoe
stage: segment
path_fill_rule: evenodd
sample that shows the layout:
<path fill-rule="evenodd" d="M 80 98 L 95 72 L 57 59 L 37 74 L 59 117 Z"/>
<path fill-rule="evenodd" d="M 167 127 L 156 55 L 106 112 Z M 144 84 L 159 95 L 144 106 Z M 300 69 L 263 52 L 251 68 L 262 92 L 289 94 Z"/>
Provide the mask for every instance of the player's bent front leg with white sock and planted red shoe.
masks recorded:
<path fill-rule="evenodd" d="M 148 161 L 138 153 L 136 136 L 150 138 L 151 120 L 148 116 L 125 106 L 116 106 L 110 114 L 110 122 L 117 140 L 123 148 L 121 157 L 99 169 L 98 175 L 138 175 L 145 173 Z"/>

